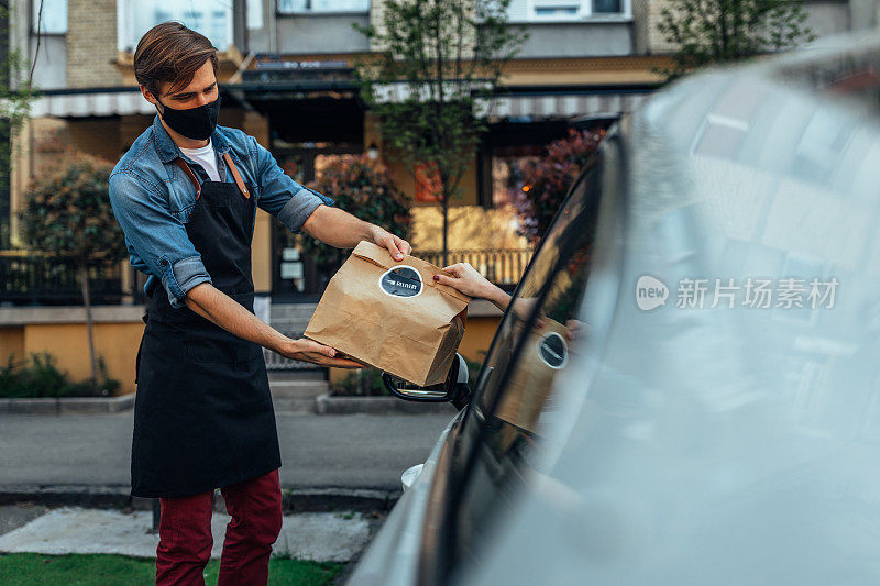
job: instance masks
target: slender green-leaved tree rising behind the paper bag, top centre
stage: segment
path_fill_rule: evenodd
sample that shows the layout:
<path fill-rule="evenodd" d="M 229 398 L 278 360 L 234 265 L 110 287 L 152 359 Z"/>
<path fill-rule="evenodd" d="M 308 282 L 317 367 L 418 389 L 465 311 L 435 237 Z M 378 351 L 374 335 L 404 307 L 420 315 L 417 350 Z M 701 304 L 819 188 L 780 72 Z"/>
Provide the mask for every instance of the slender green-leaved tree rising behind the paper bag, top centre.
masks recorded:
<path fill-rule="evenodd" d="M 378 26 L 354 24 L 376 49 L 358 70 L 383 141 L 422 184 L 436 186 L 443 263 L 450 200 L 486 129 L 483 117 L 503 68 L 526 38 L 524 27 L 507 23 L 509 2 L 386 0 Z"/>

